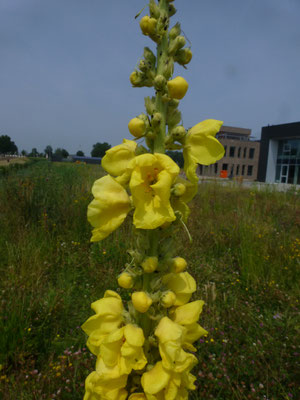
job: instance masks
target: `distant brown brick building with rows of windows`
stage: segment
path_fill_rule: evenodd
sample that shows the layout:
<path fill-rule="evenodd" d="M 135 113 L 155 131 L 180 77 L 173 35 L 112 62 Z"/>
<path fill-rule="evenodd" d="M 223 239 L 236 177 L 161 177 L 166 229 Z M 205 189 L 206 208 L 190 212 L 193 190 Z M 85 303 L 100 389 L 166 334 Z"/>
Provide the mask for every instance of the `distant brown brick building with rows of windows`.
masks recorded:
<path fill-rule="evenodd" d="M 229 178 L 242 177 L 247 180 L 256 180 L 260 142 L 251 139 L 251 129 L 222 126 L 216 138 L 225 148 L 224 157 L 217 163 L 204 166 L 199 165 L 200 176 Z M 221 171 L 226 171 L 221 174 Z"/>

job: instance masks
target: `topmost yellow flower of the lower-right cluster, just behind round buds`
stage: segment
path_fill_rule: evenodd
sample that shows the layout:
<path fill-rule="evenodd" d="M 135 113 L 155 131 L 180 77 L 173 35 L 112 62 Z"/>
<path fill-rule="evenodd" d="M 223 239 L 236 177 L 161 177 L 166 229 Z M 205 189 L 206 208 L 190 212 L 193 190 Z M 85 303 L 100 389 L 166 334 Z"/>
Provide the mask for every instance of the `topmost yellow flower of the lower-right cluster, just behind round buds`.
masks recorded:
<path fill-rule="evenodd" d="M 162 281 L 168 289 L 176 294 L 175 306 L 186 304 L 196 291 L 196 281 L 188 272 L 167 274 Z"/>

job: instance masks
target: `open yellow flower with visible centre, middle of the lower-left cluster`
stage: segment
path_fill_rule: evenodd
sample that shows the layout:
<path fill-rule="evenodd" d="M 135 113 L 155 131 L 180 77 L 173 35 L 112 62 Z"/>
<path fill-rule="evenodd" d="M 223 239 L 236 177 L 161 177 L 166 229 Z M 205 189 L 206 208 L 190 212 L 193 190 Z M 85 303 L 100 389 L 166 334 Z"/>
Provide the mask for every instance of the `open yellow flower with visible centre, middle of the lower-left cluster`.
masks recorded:
<path fill-rule="evenodd" d="M 143 369 L 147 364 L 143 351 L 144 341 L 141 328 L 132 324 L 125 325 L 103 340 L 100 345 L 101 360 L 106 367 L 118 365 L 120 375 L 128 375 L 132 369 Z"/>

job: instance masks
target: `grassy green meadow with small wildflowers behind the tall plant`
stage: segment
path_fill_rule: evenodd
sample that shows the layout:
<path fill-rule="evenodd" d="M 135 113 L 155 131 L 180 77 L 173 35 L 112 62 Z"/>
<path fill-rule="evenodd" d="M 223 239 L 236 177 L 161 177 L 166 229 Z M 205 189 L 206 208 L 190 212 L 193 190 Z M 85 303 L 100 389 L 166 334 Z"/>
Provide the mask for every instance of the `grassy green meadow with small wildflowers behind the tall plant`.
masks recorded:
<path fill-rule="evenodd" d="M 128 261 L 130 224 L 91 244 L 100 166 L 0 171 L 0 397 L 83 397 L 95 358 L 80 325 Z M 199 184 L 178 238 L 206 305 L 192 400 L 300 398 L 300 192 Z"/>

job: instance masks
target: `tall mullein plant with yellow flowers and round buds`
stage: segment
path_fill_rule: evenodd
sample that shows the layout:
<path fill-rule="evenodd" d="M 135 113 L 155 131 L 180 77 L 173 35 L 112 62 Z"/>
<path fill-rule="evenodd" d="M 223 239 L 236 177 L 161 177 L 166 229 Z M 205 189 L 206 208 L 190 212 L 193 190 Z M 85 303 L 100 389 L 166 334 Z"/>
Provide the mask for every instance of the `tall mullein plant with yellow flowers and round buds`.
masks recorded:
<path fill-rule="evenodd" d="M 108 175 L 92 188 L 91 241 L 105 239 L 127 217 L 133 223 L 134 248 L 117 278 L 131 300 L 106 290 L 92 303 L 95 314 L 82 326 L 87 346 L 97 356 L 84 400 L 185 400 L 195 389 L 193 343 L 207 334 L 197 323 L 204 302 L 190 301 L 196 282 L 185 259 L 175 253 L 175 239 L 179 229 L 187 231 L 198 163 L 215 163 L 224 149 L 215 138 L 221 121 L 205 120 L 188 131 L 181 124 L 178 105 L 188 83 L 172 75 L 174 63 L 185 67 L 192 52 L 185 47 L 180 24 L 169 29 L 175 12 L 172 0 L 150 0 L 149 15 L 140 19 L 142 33 L 156 44 L 156 55 L 144 48 L 130 82 L 153 87 L 155 96 L 145 98 L 146 113 L 128 124 L 134 140 L 124 139 L 106 152 L 102 167 Z M 165 154 L 180 149 L 186 179 Z"/>

